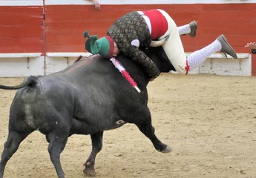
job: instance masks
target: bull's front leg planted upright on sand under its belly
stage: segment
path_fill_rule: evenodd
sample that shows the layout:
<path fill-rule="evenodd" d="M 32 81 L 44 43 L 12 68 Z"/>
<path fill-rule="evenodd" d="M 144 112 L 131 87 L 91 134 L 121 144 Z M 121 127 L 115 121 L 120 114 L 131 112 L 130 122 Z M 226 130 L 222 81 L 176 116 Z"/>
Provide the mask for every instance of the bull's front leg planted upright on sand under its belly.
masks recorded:
<path fill-rule="evenodd" d="M 88 157 L 88 159 L 86 160 L 86 162 L 84 164 L 85 165 L 85 169 L 84 169 L 85 176 L 91 176 L 91 177 L 96 176 L 96 171 L 94 169 L 95 158 L 96 158 L 96 155 L 99 153 L 99 151 L 102 150 L 102 136 L 103 136 L 102 131 L 91 134 L 92 150 L 91 150 L 90 156 Z"/>

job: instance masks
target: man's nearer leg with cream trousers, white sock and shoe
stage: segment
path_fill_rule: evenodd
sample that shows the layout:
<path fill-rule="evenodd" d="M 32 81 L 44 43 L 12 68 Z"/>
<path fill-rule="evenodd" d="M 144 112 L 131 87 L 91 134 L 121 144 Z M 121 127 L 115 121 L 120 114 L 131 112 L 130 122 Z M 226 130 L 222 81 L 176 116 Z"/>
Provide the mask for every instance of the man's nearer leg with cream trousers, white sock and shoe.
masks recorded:
<path fill-rule="evenodd" d="M 160 37 L 160 40 L 168 35 L 170 36 L 167 42 L 163 44 L 163 50 L 165 50 L 166 56 L 178 73 L 187 74 L 188 71 L 194 70 L 202 64 L 211 54 L 217 52 L 223 53 L 226 58 L 226 54 L 229 54 L 234 59 L 237 59 L 237 54 L 223 35 L 217 37 L 214 42 L 211 42 L 211 44 L 203 47 L 201 50 L 191 53 L 191 55 L 186 58 L 176 23 L 171 19 L 171 16 L 169 16 L 168 13 L 163 10 L 160 10 L 160 12 L 165 16 L 165 19 L 168 22 L 168 30 Z"/>

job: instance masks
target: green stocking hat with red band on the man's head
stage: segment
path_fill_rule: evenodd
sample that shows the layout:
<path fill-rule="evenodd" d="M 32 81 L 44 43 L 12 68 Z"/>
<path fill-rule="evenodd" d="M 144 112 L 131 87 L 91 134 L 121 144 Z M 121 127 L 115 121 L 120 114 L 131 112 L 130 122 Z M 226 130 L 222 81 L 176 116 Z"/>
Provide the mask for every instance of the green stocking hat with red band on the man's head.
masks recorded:
<path fill-rule="evenodd" d="M 111 36 L 104 36 L 98 39 L 98 36 L 89 36 L 88 31 L 85 31 L 84 37 L 88 37 L 85 42 L 85 50 L 92 54 L 99 54 L 103 57 L 112 57 L 114 41 Z"/>

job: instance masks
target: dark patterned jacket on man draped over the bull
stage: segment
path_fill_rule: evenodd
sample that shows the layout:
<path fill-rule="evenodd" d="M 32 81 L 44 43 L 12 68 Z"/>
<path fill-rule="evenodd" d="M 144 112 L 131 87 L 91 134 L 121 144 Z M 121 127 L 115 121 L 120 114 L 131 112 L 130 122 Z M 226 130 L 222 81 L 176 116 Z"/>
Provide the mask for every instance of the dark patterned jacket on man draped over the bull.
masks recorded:
<path fill-rule="evenodd" d="M 127 13 L 117 19 L 108 29 L 108 35 L 114 39 L 121 53 L 131 57 L 151 78 L 160 75 L 157 65 L 139 47 L 131 45 L 134 39 L 138 39 L 140 44 L 148 44 L 150 40 L 148 25 L 139 13 Z"/>

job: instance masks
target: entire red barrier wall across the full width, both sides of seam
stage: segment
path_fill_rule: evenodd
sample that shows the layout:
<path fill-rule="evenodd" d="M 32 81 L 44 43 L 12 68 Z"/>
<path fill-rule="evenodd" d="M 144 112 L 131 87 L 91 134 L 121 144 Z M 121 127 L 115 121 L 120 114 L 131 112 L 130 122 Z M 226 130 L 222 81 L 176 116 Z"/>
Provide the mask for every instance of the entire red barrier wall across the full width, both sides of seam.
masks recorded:
<path fill-rule="evenodd" d="M 237 53 L 249 53 L 244 45 L 256 41 L 255 3 L 101 5 L 101 10 L 93 5 L 0 6 L 0 53 L 84 52 L 85 30 L 105 36 L 125 13 L 152 8 L 168 12 L 178 26 L 197 20 L 197 37 L 181 37 L 186 52 L 199 50 L 221 33 Z M 256 75 L 256 55 L 252 73 Z"/>

